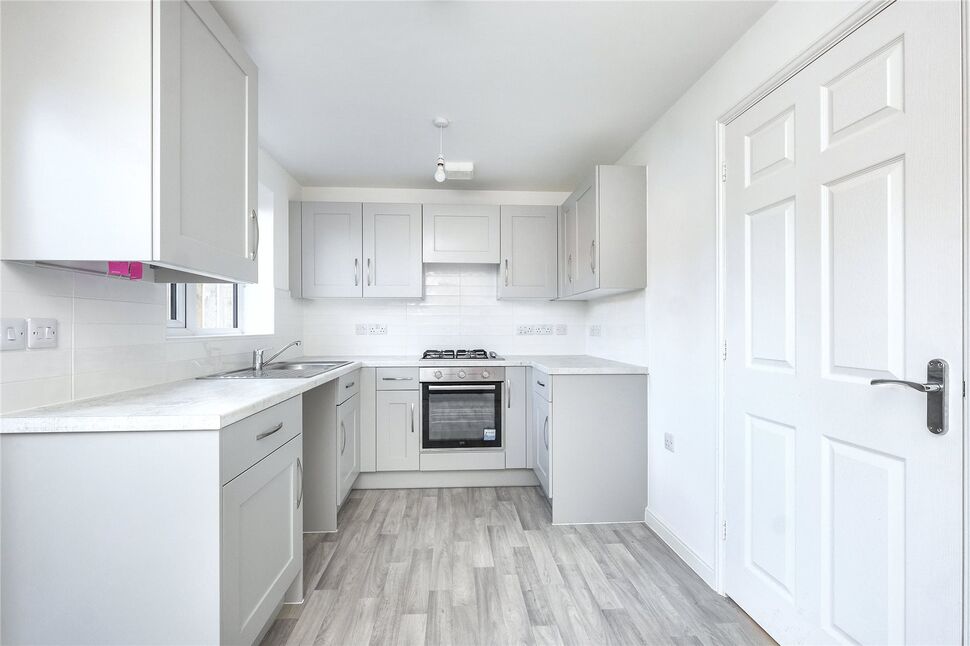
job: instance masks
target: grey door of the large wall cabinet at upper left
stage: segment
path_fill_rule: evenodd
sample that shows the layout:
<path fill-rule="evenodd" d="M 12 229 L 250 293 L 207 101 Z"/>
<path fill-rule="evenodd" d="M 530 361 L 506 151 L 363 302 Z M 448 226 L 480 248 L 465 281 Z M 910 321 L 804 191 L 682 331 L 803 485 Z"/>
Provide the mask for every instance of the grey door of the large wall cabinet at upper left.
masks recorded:
<path fill-rule="evenodd" d="M 209 3 L 155 7 L 153 256 L 165 266 L 256 282 L 256 65 Z"/>

